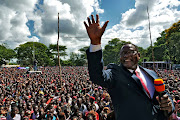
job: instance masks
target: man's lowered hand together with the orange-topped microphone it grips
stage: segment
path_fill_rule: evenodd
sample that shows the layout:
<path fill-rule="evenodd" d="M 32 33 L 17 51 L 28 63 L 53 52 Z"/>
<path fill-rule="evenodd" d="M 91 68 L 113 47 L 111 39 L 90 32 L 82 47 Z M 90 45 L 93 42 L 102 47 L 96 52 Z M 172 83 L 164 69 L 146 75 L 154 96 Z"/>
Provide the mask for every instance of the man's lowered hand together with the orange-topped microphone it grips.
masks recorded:
<path fill-rule="evenodd" d="M 154 87 L 156 91 L 159 93 L 159 97 L 157 97 L 157 100 L 160 104 L 160 109 L 164 110 L 164 115 L 168 117 L 168 113 L 172 111 L 172 102 L 165 92 L 164 81 L 162 79 L 155 79 Z"/>

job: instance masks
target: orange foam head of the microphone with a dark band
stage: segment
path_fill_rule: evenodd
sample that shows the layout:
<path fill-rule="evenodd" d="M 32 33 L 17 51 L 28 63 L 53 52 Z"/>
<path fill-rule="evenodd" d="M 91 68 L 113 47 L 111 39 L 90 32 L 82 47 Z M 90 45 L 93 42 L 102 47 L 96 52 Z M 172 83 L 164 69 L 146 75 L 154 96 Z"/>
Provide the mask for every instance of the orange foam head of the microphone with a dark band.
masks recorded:
<path fill-rule="evenodd" d="M 154 80 L 154 87 L 157 92 L 163 92 L 165 90 L 165 84 L 162 79 L 155 79 Z"/>

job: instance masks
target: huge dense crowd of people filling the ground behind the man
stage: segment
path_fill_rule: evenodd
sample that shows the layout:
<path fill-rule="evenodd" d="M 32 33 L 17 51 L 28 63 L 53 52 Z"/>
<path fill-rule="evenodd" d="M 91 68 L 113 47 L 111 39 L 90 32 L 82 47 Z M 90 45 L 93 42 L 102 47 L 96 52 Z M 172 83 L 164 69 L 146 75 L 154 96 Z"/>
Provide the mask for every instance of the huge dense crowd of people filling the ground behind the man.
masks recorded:
<path fill-rule="evenodd" d="M 107 89 L 90 81 L 87 67 L 0 69 L 0 118 L 8 120 L 113 120 Z M 172 115 L 180 119 L 180 71 L 158 70 L 176 104 Z M 61 79 L 61 80 L 60 80 Z M 131 108 L 130 108 L 131 109 Z"/>

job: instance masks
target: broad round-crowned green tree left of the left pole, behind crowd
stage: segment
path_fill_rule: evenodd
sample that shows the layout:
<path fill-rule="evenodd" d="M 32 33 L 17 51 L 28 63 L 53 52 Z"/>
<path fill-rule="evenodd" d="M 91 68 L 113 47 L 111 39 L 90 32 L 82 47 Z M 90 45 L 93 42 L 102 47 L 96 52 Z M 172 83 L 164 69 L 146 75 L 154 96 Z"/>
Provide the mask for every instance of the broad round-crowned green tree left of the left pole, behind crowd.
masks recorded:
<path fill-rule="evenodd" d="M 52 61 L 49 56 L 49 49 L 46 45 L 39 42 L 27 42 L 15 48 L 18 62 L 22 65 L 33 65 L 34 59 L 37 60 L 38 66 L 51 65 Z M 33 57 L 34 54 L 34 57 Z"/>

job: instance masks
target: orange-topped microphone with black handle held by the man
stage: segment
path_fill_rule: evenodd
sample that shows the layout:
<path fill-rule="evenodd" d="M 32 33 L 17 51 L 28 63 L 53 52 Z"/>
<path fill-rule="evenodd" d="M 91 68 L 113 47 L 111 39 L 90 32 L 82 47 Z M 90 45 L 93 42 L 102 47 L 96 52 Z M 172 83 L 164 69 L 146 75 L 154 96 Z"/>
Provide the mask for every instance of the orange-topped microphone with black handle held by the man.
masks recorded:
<path fill-rule="evenodd" d="M 165 93 L 165 84 L 164 81 L 160 78 L 154 80 L 154 87 L 156 91 L 159 93 L 159 101 L 161 102 L 161 97 L 166 94 Z M 164 111 L 164 115 L 168 117 L 168 111 Z"/>

